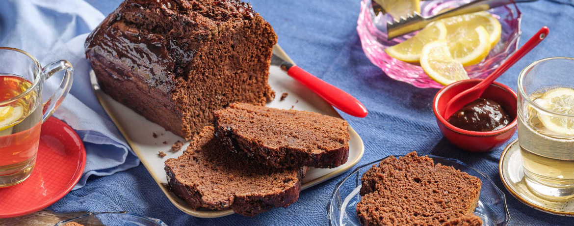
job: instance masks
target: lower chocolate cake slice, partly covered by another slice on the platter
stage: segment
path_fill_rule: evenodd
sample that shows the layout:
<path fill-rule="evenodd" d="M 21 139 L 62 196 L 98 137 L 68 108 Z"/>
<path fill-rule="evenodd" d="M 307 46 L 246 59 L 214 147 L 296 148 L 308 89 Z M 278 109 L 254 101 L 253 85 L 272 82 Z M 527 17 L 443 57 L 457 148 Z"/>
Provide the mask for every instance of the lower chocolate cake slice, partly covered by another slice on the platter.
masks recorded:
<path fill-rule="evenodd" d="M 245 153 L 224 150 L 204 127 L 183 155 L 165 161 L 172 191 L 193 209 L 229 209 L 245 216 L 297 201 L 307 167 L 277 170 Z"/>

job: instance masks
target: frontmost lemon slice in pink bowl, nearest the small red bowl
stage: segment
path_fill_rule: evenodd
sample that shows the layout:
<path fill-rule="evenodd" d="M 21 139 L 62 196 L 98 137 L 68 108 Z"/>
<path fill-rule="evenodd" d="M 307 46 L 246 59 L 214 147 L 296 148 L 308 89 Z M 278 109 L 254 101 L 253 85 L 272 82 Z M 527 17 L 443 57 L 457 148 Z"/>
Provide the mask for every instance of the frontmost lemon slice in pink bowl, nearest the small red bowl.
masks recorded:
<path fill-rule="evenodd" d="M 431 79 L 441 85 L 468 79 L 463 64 L 452 58 L 446 40 L 433 41 L 422 48 L 421 67 Z"/>

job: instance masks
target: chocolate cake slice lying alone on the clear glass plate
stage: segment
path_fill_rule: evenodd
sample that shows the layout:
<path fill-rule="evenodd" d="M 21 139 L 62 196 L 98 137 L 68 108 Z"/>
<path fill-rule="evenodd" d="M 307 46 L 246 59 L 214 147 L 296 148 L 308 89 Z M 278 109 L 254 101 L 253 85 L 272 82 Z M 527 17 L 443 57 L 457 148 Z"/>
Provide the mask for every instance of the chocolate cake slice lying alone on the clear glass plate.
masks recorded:
<path fill-rule="evenodd" d="M 363 225 L 442 225 L 472 214 L 482 185 L 480 179 L 414 151 L 383 159 L 361 181 L 356 212 Z"/>

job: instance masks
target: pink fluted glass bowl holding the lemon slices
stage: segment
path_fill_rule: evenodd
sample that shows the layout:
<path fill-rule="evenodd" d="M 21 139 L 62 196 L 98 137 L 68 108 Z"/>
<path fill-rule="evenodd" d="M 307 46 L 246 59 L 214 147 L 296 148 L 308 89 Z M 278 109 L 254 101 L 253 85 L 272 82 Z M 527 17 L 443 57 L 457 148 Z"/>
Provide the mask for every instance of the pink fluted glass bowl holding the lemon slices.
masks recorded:
<path fill-rule="evenodd" d="M 433 0 L 421 1 L 421 14 L 429 16 L 440 10 L 463 5 L 470 2 L 468 0 Z M 510 4 L 495 9 L 488 10 L 489 13 L 498 18 L 502 26 L 501 40 L 495 46 L 486 59 L 479 64 L 465 67 L 470 78 L 485 78 L 496 68 L 501 66 L 515 51 L 518 49 L 518 40 L 520 39 L 520 21 L 522 13 L 518 10 L 516 4 Z M 361 11 L 357 21 L 357 32 L 363 47 L 364 53 L 373 64 L 381 68 L 389 77 L 410 83 L 419 88 L 441 88 L 443 85 L 433 81 L 422 70 L 420 66 L 402 62 L 391 58 L 385 52 L 387 47 L 401 43 L 415 35 L 417 32 L 410 33 L 401 37 L 387 40 L 386 24 L 391 20 L 389 15 L 379 14 L 375 16 L 371 0 L 361 2 Z"/>

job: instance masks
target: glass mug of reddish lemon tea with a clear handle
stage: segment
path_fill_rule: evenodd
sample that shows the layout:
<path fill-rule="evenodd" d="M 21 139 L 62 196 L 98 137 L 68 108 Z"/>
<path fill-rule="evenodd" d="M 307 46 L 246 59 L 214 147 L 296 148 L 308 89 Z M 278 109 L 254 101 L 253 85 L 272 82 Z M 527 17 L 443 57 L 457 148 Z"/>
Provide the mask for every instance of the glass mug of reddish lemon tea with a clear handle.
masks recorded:
<path fill-rule="evenodd" d="M 60 86 L 42 102 L 42 85 L 64 71 Z M 69 93 L 73 68 L 67 60 L 42 67 L 34 56 L 0 47 L 0 187 L 16 185 L 32 174 L 42 122 Z"/>

